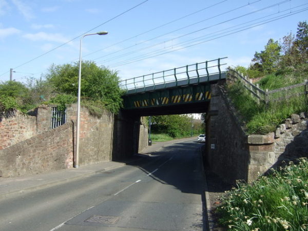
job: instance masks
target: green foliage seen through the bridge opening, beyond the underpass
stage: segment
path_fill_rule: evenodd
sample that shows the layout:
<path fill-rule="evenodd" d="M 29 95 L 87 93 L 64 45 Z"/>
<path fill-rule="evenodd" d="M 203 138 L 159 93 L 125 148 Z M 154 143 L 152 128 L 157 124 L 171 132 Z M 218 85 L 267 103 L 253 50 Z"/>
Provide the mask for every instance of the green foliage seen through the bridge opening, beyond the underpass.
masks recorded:
<path fill-rule="evenodd" d="M 156 133 L 167 133 L 170 137 L 189 136 L 191 131 L 190 118 L 186 115 L 157 115 L 151 119 L 151 129 Z"/>

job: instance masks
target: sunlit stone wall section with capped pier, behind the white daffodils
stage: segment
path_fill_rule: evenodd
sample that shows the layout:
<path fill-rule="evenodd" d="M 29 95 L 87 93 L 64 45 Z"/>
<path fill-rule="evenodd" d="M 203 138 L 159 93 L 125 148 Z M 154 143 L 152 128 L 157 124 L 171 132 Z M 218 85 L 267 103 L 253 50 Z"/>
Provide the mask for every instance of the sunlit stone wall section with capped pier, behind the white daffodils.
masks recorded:
<path fill-rule="evenodd" d="M 255 180 L 283 161 L 293 161 L 308 157 L 308 116 L 304 112 L 292 114 L 275 132 L 264 136 L 248 136 L 249 177 Z"/>

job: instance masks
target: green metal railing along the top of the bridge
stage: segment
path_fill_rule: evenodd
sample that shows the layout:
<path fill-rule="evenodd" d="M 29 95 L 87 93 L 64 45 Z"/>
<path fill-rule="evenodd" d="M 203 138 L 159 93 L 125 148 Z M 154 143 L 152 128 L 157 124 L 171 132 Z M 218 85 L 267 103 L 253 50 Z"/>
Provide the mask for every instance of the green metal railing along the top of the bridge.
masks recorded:
<path fill-rule="evenodd" d="M 138 76 L 136 78 L 131 78 L 127 80 L 122 80 L 119 82 L 119 87 L 126 91 L 137 92 L 137 89 L 143 88 L 144 90 L 151 86 L 152 90 L 156 89 L 158 85 L 167 86 L 168 83 L 175 83 L 178 86 L 180 81 L 186 80 L 187 84 L 199 83 L 200 81 L 210 81 L 211 75 L 217 75 L 218 79 L 222 78 L 221 66 L 226 65 L 226 63 L 221 63 L 221 60 L 226 59 L 223 57 L 216 60 L 205 61 L 202 63 L 196 63 L 191 65 L 186 65 L 183 67 L 178 67 L 174 69 L 164 70 L 156 73 L 151 73 L 147 75 Z"/>

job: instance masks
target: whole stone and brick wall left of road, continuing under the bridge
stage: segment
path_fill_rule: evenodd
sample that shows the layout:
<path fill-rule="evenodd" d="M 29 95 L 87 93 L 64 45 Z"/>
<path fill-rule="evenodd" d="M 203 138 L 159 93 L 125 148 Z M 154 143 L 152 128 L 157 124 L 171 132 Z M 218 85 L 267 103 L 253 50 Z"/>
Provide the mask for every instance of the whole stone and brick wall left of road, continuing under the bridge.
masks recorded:
<path fill-rule="evenodd" d="M 113 155 L 127 158 L 138 152 L 138 143 L 139 148 L 147 146 L 147 129 L 140 126 L 140 118 L 114 123 L 113 114 L 105 111 L 97 118 L 84 107 L 80 115 L 80 165 L 110 161 Z M 0 177 L 73 167 L 76 104 L 67 107 L 66 124 L 50 129 L 50 118 L 51 108 L 44 106 L 31 115 L 12 111 L 1 117 Z"/>

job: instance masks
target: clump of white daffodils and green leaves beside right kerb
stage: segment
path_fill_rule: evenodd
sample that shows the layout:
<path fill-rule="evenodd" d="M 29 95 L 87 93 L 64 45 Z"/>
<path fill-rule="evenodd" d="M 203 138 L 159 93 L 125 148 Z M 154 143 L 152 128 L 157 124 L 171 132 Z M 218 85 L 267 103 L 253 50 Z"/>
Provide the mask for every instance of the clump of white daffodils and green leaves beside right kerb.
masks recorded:
<path fill-rule="evenodd" d="M 307 230 L 308 161 L 301 158 L 252 184 L 238 183 L 218 207 L 228 230 Z"/>

